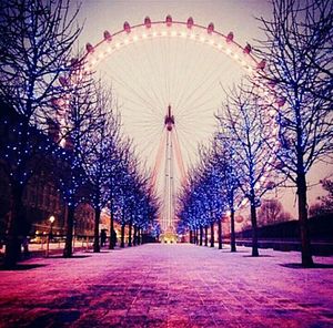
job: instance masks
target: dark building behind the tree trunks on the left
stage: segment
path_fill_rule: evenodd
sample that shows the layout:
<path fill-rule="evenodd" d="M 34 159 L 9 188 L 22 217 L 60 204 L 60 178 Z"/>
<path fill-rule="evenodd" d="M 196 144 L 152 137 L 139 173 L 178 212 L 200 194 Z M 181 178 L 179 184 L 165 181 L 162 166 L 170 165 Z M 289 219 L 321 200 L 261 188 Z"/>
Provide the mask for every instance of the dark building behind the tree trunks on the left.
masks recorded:
<path fill-rule="evenodd" d="M 17 130 L 12 126 L 20 122 L 20 115 L 8 106 L 0 104 L 0 143 L 2 145 L 13 141 Z M 49 121 L 49 140 L 41 136 L 37 130 L 31 127 L 31 139 L 44 137 L 44 142 L 59 141 L 59 126 Z M 67 141 L 70 144 L 70 141 Z M 70 146 L 68 147 L 70 148 Z M 51 172 L 52 165 L 61 165 L 59 161 L 50 161 L 47 157 L 41 161 L 36 174 L 29 180 L 23 194 L 24 226 L 21 233 L 24 235 L 47 234 L 50 230 L 50 216 L 54 216 L 52 230 L 54 235 L 64 235 L 67 206 L 62 201 L 61 194 L 57 188 L 57 176 Z M 10 202 L 11 187 L 9 182 L 9 164 L 0 153 L 0 236 L 3 238 L 7 233 L 8 222 L 11 217 Z M 89 204 L 80 204 L 75 213 L 75 234 L 93 235 L 93 208 Z"/>

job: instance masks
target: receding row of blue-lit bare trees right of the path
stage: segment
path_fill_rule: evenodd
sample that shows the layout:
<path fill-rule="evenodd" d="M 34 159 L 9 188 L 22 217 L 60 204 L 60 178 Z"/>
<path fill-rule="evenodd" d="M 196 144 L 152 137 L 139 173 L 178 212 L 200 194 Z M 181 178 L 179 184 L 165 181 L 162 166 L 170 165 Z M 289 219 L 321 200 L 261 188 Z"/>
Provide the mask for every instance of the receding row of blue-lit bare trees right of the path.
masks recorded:
<path fill-rule="evenodd" d="M 315 163 L 330 161 L 333 151 L 332 8 L 332 2 L 323 0 L 272 2 L 272 19 L 259 19 L 265 40 L 254 47 L 265 61 L 261 62 L 248 86 L 243 83 L 228 94 L 213 144 L 218 148 L 214 152 L 221 152 L 219 161 L 226 162 L 219 167 L 219 161 L 213 161 L 221 176 L 215 193 L 224 197 L 222 211 L 231 213 L 234 207 L 229 205 L 226 194 L 236 195 L 236 192 L 240 199 L 248 201 L 253 256 L 259 255 L 256 207 L 262 195 L 282 182 L 296 187 L 302 265 L 305 267 L 313 265 L 306 174 Z M 213 188 L 212 182 L 204 184 L 206 180 L 199 174 L 209 175 L 212 171 L 208 168 L 212 160 L 205 163 L 204 170 L 193 172 L 195 191 L 193 183 L 189 183 L 183 192 L 179 214 L 182 222 L 204 215 L 203 206 L 189 199 L 195 195 L 205 202 L 206 193 Z"/>

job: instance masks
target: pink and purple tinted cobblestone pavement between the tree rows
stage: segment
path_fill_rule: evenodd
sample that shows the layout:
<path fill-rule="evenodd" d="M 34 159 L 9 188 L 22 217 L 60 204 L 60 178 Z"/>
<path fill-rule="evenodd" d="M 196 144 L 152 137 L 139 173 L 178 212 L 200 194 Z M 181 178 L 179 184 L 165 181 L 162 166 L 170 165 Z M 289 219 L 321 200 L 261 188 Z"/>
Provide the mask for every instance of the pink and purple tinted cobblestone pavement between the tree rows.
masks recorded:
<path fill-rule="evenodd" d="M 333 257 L 149 244 L 0 271 L 1 327 L 333 327 Z M 31 267 L 29 267 L 31 266 Z"/>

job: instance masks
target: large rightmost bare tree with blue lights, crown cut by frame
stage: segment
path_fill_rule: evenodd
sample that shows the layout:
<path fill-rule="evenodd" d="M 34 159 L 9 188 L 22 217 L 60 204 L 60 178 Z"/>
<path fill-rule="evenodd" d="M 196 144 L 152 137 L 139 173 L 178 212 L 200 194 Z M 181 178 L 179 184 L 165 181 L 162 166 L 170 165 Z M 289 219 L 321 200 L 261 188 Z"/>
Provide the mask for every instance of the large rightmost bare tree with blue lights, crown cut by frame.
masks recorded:
<path fill-rule="evenodd" d="M 307 227 L 306 174 L 333 152 L 333 2 L 272 1 L 271 20 L 260 19 L 265 40 L 259 54 L 268 61 L 262 79 L 275 85 L 280 168 L 296 186 L 302 265 L 313 265 Z"/>

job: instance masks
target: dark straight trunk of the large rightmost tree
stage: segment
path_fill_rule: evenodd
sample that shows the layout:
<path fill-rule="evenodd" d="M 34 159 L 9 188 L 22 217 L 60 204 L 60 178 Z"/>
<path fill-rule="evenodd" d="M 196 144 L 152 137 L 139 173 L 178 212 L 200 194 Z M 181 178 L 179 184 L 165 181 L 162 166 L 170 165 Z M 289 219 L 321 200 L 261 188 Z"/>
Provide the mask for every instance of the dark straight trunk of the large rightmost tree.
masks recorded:
<path fill-rule="evenodd" d="M 297 175 L 299 221 L 302 245 L 302 266 L 313 267 L 311 238 L 307 222 L 306 180 L 305 174 Z"/>

